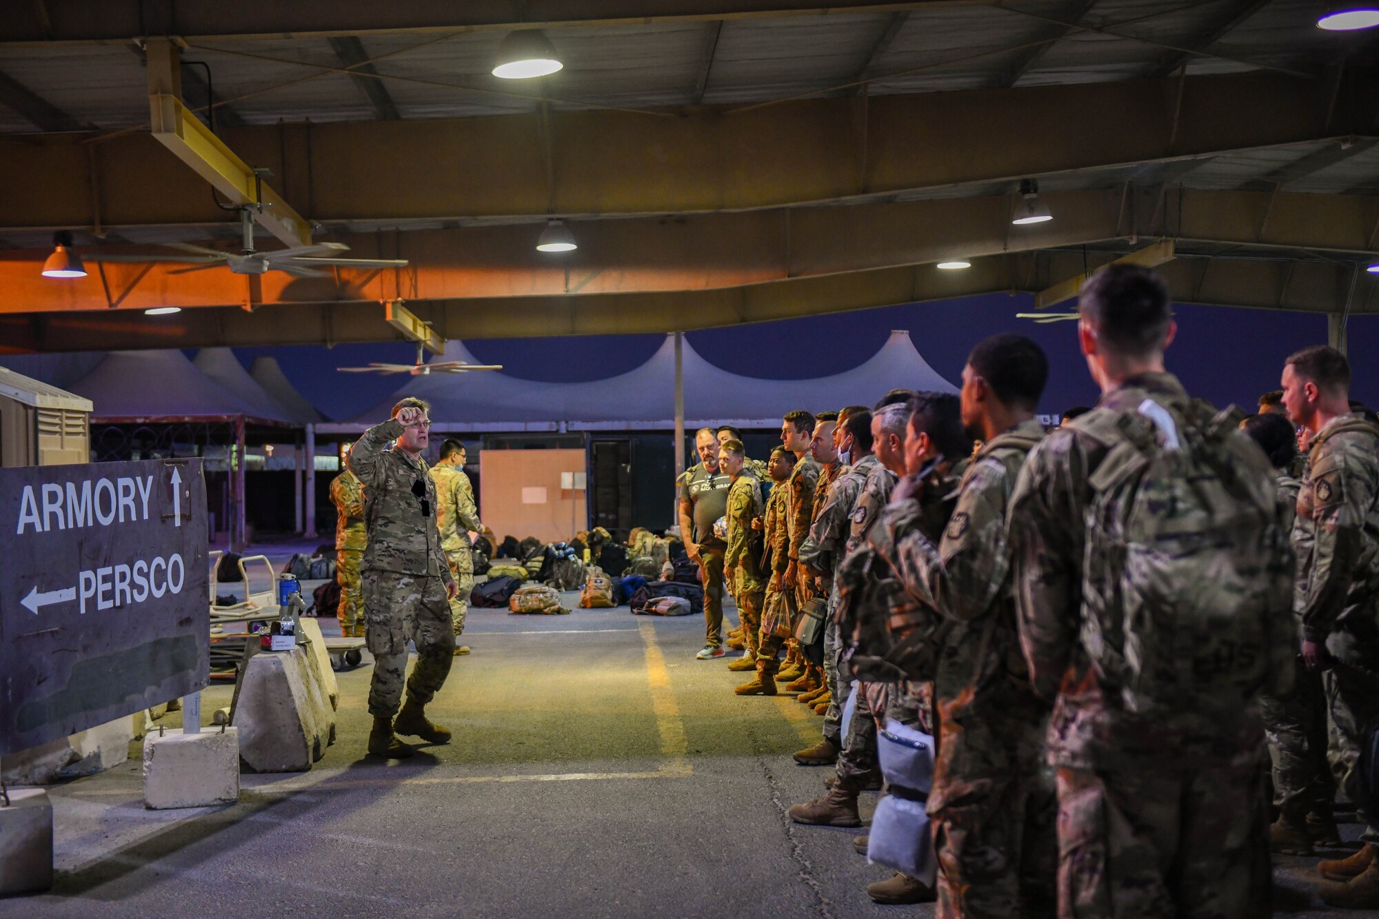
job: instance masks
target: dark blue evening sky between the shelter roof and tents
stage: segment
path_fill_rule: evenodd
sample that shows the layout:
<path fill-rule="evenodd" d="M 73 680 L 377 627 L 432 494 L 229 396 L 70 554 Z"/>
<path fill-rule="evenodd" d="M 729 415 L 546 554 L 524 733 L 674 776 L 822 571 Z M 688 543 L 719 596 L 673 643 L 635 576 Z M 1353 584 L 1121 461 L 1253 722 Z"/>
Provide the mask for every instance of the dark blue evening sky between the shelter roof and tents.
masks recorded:
<path fill-rule="evenodd" d="M 1038 326 L 1015 313 L 1031 309 L 1029 295 L 993 294 L 958 301 L 907 304 L 830 316 L 789 319 L 690 333 L 694 348 L 713 364 L 738 374 L 797 379 L 855 367 L 885 344 L 892 328 L 906 328 L 916 348 L 945 378 L 957 384 L 972 345 L 1003 331 L 1037 341 L 1049 356 L 1051 375 L 1041 411 L 1091 404 L 1096 391 L 1077 350 L 1074 323 Z M 1178 341 L 1168 366 L 1189 391 L 1218 404 L 1252 407 L 1278 386 L 1284 359 L 1298 348 L 1327 341 L 1324 316 L 1223 306 L 1178 306 Z M 469 341 L 479 360 L 505 366 L 528 379 L 572 382 L 625 373 L 645 362 L 662 335 L 578 338 L 503 338 Z M 1350 359 L 1357 399 L 1379 402 L 1379 367 L 1367 360 L 1379 345 L 1379 317 L 1350 320 Z M 335 368 L 371 360 L 411 363 L 411 345 L 239 348 L 243 362 L 273 353 L 288 379 L 332 418 L 350 417 L 393 393 L 403 377 L 342 374 Z M 880 396 L 880 393 L 877 393 Z M 822 408 L 822 406 L 816 407 Z"/>

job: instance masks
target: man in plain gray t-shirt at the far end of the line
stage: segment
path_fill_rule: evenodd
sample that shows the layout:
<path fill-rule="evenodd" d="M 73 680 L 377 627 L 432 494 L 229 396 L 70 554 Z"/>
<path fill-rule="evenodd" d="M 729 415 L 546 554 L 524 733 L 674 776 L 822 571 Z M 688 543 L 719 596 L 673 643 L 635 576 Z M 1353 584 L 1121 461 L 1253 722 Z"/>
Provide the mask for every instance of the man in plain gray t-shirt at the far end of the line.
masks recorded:
<path fill-rule="evenodd" d="M 695 657 L 707 661 L 723 657 L 723 553 L 727 544 L 714 535 L 713 524 L 728 509 L 732 477 L 718 471 L 718 439 L 713 428 L 695 435 L 696 462 L 676 482 L 680 491 L 680 538 L 685 553 L 699 566 L 703 582 L 703 618 L 706 639 Z"/>

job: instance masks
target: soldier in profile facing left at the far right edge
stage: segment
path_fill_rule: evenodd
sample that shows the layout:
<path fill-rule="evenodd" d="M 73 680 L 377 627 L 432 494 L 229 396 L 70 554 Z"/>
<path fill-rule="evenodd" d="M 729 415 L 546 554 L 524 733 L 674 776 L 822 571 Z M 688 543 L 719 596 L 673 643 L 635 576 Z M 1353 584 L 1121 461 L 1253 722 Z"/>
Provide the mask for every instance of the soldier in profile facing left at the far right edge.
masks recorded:
<path fill-rule="evenodd" d="M 1327 690 L 1331 770 L 1358 800 L 1360 748 L 1379 718 L 1379 426 L 1351 410 L 1350 364 L 1335 348 L 1288 357 L 1282 386 L 1310 443 L 1292 531 L 1302 660 Z M 1318 865 L 1333 882 L 1321 891 L 1328 905 L 1379 908 L 1379 814 L 1361 820 L 1360 851 Z"/>

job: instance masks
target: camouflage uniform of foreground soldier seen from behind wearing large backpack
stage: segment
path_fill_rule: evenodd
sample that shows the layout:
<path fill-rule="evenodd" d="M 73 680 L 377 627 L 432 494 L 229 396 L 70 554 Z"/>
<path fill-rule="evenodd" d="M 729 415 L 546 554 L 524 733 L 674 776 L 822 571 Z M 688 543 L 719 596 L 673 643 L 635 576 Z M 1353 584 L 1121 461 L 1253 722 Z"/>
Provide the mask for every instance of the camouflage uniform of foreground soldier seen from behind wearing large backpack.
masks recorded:
<path fill-rule="evenodd" d="M 1106 393 L 1096 410 L 1030 453 L 1007 515 L 1030 682 L 1055 700 L 1047 744 L 1058 770 L 1059 915 L 1267 916 L 1258 711 L 1204 698 L 1172 715 L 1132 712 L 1124 689 L 1092 665 L 1096 646 L 1087 622 L 1098 597 L 1084 597 L 1083 575 L 1091 479 L 1118 443 L 1117 419 L 1136 417 L 1146 399 L 1162 406 L 1187 396 L 1176 378 L 1160 373 Z M 1245 479 L 1254 469 L 1242 465 L 1244 455 L 1233 457 L 1241 480 L 1267 493 L 1263 458 L 1254 482 Z M 1282 664 L 1292 654 L 1292 626 L 1280 610 L 1265 650 Z M 1273 689 L 1282 693 L 1288 678 L 1277 671 Z"/>

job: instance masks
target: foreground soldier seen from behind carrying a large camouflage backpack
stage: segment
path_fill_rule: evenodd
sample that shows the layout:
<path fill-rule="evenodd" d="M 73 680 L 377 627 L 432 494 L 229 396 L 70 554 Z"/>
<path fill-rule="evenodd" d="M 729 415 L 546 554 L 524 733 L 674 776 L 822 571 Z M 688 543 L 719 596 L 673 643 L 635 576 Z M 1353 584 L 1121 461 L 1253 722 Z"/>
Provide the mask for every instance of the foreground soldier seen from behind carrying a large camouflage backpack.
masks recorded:
<path fill-rule="evenodd" d="M 1020 644 L 1054 701 L 1059 915 L 1267 916 L 1256 697 L 1291 690 L 1296 653 L 1274 477 L 1238 413 L 1164 370 L 1158 275 L 1102 268 L 1078 313 L 1102 399 L 1030 451 L 1007 513 Z"/>

